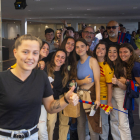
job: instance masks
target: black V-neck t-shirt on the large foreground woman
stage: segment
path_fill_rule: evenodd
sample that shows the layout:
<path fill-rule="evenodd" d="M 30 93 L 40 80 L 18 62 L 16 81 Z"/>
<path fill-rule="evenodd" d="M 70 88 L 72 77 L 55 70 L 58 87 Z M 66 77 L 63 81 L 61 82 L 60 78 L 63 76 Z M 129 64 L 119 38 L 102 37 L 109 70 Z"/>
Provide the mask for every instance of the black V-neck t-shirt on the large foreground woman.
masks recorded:
<path fill-rule="evenodd" d="M 38 124 L 42 98 L 53 95 L 47 74 L 34 69 L 25 81 L 0 72 L 0 128 L 30 129 Z"/>

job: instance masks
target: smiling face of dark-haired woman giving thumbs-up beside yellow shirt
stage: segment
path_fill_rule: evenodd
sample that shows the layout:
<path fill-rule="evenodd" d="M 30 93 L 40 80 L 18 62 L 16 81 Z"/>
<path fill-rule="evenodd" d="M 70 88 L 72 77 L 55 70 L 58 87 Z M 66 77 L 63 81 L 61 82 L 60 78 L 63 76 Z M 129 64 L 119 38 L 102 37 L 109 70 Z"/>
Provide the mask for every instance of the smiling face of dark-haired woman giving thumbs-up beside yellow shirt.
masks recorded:
<path fill-rule="evenodd" d="M 111 61 L 115 61 L 118 58 L 118 53 L 116 47 L 110 47 L 108 50 L 108 58 Z"/>

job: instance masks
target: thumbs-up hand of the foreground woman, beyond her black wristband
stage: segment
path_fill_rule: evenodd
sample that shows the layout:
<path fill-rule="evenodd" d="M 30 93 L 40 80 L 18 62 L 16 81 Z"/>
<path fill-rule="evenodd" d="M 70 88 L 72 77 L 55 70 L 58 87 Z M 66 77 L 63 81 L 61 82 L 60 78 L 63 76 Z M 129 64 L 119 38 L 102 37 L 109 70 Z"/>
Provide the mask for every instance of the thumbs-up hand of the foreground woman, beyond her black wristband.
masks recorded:
<path fill-rule="evenodd" d="M 65 94 L 65 98 L 70 104 L 76 106 L 79 102 L 79 97 L 73 92 L 74 89 L 75 86 L 72 86 L 72 88 Z"/>

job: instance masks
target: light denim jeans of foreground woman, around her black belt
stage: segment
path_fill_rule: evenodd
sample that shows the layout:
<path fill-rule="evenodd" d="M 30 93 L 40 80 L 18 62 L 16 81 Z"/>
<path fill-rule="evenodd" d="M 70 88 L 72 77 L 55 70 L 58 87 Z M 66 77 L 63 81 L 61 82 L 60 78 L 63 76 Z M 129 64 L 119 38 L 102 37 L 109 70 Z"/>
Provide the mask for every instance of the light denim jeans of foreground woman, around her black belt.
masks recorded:
<path fill-rule="evenodd" d="M 33 128 L 31 129 L 28 129 L 28 131 L 31 131 L 32 129 L 34 129 L 36 126 L 34 126 Z M 2 129 L 0 128 L 0 131 L 2 132 L 8 132 L 8 133 L 12 133 L 12 136 L 14 134 L 18 134 L 19 132 L 27 132 L 27 130 L 25 129 L 22 129 L 22 130 L 7 130 L 7 129 Z M 2 136 L 0 135 L 0 140 L 38 140 L 38 132 L 34 133 L 33 135 L 27 137 L 27 138 L 24 138 L 24 139 L 20 139 L 20 138 L 13 138 L 13 137 L 6 137 L 6 136 Z"/>

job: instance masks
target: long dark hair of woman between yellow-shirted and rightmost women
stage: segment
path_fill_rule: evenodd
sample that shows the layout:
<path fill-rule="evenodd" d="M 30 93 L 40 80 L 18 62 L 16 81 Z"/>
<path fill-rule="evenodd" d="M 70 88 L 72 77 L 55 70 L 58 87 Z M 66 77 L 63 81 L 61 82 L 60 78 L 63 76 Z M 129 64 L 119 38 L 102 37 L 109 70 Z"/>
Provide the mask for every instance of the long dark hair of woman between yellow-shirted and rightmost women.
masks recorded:
<path fill-rule="evenodd" d="M 109 48 L 114 47 L 117 50 L 117 59 L 115 60 L 115 65 L 113 63 L 113 61 L 111 61 L 108 57 L 108 52 L 109 52 Z M 114 75 L 116 76 L 116 78 L 120 78 L 120 77 L 125 77 L 125 73 L 124 73 L 124 65 L 119 57 L 119 47 L 120 45 L 118 44 L 110 44 L 108 46 L 108 51 L 107 51 L 107 63 L 110 66 L 111 70 L 114 70 Z"/>

